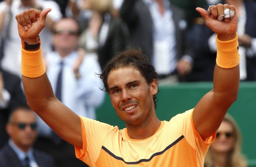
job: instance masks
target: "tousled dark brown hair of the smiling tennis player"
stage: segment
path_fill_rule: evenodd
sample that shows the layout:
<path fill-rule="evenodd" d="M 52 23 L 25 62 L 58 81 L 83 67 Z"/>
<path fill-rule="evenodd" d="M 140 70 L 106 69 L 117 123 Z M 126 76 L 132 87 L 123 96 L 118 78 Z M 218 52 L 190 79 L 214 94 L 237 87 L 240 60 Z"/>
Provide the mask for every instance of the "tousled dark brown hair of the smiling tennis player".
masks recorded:
<path fill-rule="evenodd" d="M 117 52 L 111 61 L 108 62 L 107 66 L 103 70 L 102 74 L 98 74 L 99 78 L 103 81 L 104 87 L 101 90 L 109 93 L 108 87 L 108 74 L 112 69 L 118 69 L 122 67 L 133 66 L 134 69 L 139 70 L 141 75 L 146 79 L 147 83 L 152 83 L 153 79 L 157 80 L 157 73 L 155 68 L 150 64 L 146 55 L 143 55 L 140 48 L 127 48 L 122 52 Z M 158 80 L 157 80 L 158 83 Z M 158 83 L 159 84 L 159 83 Z M 159 88 L 157 94 L 159 95 Z M 153 96 L 154 107 L 157 108 L 157 94 Z"/>

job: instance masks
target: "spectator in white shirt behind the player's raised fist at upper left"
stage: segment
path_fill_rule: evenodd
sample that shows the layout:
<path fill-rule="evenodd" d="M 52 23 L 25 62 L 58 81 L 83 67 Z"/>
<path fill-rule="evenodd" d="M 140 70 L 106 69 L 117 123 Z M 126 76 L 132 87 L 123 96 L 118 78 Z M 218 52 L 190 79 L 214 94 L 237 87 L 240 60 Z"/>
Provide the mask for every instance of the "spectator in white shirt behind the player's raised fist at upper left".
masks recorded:
<path fill-rule="evenodd" d="M 18 36 L 17 21 L 15 16 L 26 9 L 36 8 L 39 10 L 51 8 L 47 15 L 46 28 L 39 34 L 43 53 L 51 51 L 51 27 L 54 22 L 61 18 L 58 4 L 51 0 L 5 0 L 0 3 L 0 37 L 2 38 L 3 58 L 1 67 L 21 77 L 20 73 L 20 39 Z"/>

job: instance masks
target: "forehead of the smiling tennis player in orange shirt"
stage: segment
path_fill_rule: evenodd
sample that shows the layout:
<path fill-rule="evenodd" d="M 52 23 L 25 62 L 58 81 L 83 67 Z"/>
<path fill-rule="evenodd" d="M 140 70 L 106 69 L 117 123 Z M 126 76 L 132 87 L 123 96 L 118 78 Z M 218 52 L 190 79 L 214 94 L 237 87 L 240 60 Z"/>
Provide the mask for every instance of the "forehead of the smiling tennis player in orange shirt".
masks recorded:
<path fill-rule="evenodd" d="M 128 82 L 140 80 L 145 81 L 146 79 L 141 75 L 140 71 L 134 67 L 122 67 L 118 69 L 112 69 L 108 74 L 108 87 L 122 86 Z"/>

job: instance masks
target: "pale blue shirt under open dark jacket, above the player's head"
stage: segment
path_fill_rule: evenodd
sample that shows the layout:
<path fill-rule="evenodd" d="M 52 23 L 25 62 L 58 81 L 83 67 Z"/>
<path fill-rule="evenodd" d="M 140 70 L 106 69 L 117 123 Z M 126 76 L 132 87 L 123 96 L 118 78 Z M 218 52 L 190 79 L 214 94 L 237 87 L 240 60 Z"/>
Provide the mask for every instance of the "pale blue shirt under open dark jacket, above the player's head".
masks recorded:
<path fill-rule="evenodd" d="M 177 51 L 175 24 L 170 3 L 164 0 L 165 12 L 161 15 L 154 0 L 144 0 L 153 21 L 153 65 L 158 74 L 169 74 L 176 69 Z"/>

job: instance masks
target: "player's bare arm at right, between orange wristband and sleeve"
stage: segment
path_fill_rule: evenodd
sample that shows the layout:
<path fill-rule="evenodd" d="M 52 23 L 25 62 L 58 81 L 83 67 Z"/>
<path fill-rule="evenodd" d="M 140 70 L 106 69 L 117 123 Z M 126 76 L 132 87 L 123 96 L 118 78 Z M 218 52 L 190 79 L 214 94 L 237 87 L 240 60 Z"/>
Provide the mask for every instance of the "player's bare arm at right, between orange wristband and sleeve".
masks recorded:
<path fill-rule="evenodd" d="M 213 90 L 203 96 L 193 112 L 195 128 L 203 139 L 220 126 L 227 110 L 236 101 L 239 88 L 239 66 L 224 69 L 215 66 Z"/>

